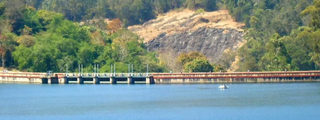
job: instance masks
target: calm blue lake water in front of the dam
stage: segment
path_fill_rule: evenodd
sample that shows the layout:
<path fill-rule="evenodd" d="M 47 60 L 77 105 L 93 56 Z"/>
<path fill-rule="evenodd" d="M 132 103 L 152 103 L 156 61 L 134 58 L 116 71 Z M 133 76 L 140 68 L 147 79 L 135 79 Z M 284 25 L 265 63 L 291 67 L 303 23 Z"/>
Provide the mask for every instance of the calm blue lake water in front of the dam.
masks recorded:
<path fill-rule="evenodd" d="M 0 120 L 320 119 L 320 83 L 0 83 Z"/>

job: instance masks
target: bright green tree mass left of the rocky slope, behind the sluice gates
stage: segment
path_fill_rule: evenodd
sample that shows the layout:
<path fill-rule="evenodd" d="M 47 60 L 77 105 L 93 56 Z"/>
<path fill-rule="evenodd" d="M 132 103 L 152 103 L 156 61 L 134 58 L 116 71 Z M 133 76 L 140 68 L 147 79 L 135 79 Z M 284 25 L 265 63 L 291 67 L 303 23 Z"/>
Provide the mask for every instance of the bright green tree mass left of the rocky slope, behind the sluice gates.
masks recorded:
<path fill-rule="evenodd" d="M 99 71 L 111 72 L 110 65 L 116 64 L 117 72 L 127 72 L 127 64 L 133 64 L 133 72 L 146 72 L 149 64 L 150 72 L 165 70 L 156 54 L 147 52 L 139 36 L 123 26 L 114 25 L 114 33 L 108 34 L 95 26 L 69 21 L 61 13 L 30 6 L 21 6 L 19 12 L 21 18 L 14 17 L 13 21 L 6 14 L 0 17 L 4 67 L 66 72 L 68 64 L 68 70 L 75 72 L 78 64 L 83 64 L 84 72 L 92 72 L 94 64 L 99 64 Z"/>

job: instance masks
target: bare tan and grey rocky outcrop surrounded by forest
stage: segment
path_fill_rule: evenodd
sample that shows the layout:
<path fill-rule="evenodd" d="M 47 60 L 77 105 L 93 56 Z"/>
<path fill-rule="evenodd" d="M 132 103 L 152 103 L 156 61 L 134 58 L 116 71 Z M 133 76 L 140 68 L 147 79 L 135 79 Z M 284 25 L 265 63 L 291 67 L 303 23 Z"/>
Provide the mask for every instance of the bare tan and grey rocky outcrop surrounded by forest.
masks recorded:
<path fill-rule="evenodd" d="M 131 29 L 144 38 L 149 51 L 173 51 L 204 53 L 212 62 L 217 61 L 228 48 L 236 50 L 243 43 L 244 26 L 234 22 L 228 11 L 169 12 Z"/>

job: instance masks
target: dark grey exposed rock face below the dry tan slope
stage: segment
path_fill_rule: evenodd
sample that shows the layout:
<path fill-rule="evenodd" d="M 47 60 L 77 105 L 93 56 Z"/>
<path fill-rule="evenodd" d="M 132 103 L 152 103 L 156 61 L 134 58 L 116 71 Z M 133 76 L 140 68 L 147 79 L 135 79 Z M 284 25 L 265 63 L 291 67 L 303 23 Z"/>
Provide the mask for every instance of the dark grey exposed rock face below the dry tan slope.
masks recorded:
<path fill-rule="evenodd" d="M 227 32 L 223 32 L 227 30 Z M 243 42 L 243 32 L 236 29 L 199 28 L 193 32 L 174 35 L 163 33 L 149 41 L 146 46 L 149 51 L 174 50 L 179 56 L 183 52 L 198 51 L 211 61 L 217 61 L 229 47 L 234 50 L 239 42 Z"/>

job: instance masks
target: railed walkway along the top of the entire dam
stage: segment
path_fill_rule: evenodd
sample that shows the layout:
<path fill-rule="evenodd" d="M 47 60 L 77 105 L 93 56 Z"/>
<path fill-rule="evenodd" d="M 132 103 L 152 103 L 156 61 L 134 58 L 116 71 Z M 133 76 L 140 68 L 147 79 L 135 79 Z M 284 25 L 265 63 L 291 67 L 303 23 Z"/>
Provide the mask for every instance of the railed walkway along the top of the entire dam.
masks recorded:
<path fill-rule="evenodd" d="M 263 78 L 263 77 L 314 77 L 320 76 L 320 71 L 287 71 L 287 72 L 229 72 L 229 73 L 54 73 L 51 76 L 61 77 L 146 77 L 153 76 L 161 79 L 172 78 Z M 0 72 L 0 77 L 41 78 L 50 77 L 46 73 L 32 72 Z"/>

